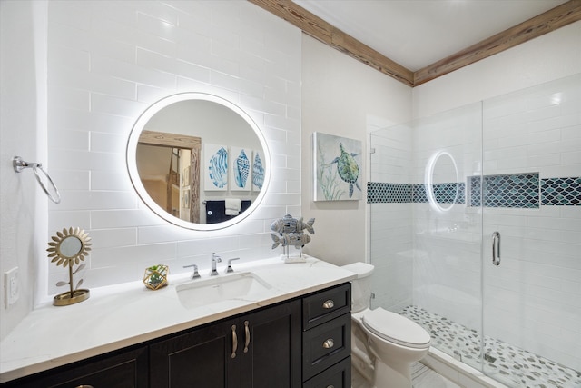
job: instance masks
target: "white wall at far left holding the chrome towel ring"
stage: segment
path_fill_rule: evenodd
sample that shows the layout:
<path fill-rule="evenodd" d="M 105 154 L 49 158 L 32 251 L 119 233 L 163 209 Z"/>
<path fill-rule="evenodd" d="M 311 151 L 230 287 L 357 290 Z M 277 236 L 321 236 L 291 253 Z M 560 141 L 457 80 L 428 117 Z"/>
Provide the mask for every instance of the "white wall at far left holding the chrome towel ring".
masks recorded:
<path fill-rule="evenodd" d="M 5 308 L 0 286 L 0 338 L 32 309 L 34 274 L 45 250 L 47 199 L 26 169 L 16 174 L 12 159 L 46 164 L 46 35 L 44 2 L 0 2 L 0 274 L 19 272 L 19 298 Z M 39 237 L 42 235 L 42 238 Z"/>

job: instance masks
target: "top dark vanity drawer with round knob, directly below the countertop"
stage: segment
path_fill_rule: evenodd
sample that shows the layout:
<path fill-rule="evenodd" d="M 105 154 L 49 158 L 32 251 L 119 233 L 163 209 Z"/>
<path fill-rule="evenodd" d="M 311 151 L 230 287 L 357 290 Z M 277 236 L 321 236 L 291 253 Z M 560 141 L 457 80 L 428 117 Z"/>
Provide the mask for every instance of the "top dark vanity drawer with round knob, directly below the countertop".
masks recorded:
<path fill-rule="evenodd" d="M 309 330 L 351 310 L 351 284 L 340 284 L 330 290 L 302 299 L 302 328 Z"/>

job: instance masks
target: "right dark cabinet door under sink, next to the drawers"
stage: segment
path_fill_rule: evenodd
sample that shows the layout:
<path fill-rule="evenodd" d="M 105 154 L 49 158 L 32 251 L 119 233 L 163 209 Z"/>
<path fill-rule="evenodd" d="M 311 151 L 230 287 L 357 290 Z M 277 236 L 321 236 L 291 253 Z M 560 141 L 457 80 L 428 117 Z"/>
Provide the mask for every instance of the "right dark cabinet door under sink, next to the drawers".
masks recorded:
<path fill-rule="evenodd" d="M 241 380 L 236 386 L 300 387 L 300 301 L 246 314 L 240 323 Z"/>

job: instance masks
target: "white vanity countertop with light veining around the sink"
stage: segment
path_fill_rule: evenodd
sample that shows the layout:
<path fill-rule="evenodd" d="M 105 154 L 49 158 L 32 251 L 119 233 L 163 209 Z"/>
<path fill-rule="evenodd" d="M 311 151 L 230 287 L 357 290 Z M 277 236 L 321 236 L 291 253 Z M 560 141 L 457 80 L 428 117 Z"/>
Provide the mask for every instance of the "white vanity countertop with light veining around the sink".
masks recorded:
<path fill-rule="evenodd" d="M 91 290 L 91 297 L 82 303 L 35 309 L 0 343 L 0 383 L 355 278 L 350 271 L 311 257 L 306 263 L 284 264 L 277 257 L 233 266 L 236 273 L 251 271 L 260 276 L 271 289 L 246 299 L 188 309 L 180 303 L 176 286 L 195 280 L 190 280 L 189 274 L 179 274 L 170 276 L 170 285 L 157 291 L 134 282 Z M 223 268 L 219 271 L 219 276 L 228 276 L 222 274 Z M 202 274 L 202 280 L 208 277 Z"/>

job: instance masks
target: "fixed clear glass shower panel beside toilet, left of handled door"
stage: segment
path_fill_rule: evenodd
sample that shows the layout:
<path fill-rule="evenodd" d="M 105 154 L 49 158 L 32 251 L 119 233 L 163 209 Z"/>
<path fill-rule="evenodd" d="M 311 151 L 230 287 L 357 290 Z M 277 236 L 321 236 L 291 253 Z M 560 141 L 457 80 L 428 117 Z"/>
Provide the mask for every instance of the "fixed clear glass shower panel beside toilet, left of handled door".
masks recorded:
<path fill-rule="evenodd" d="M 371 134 L 375 299 L 438 350 L 481 369 L 481 104 Z"/>

